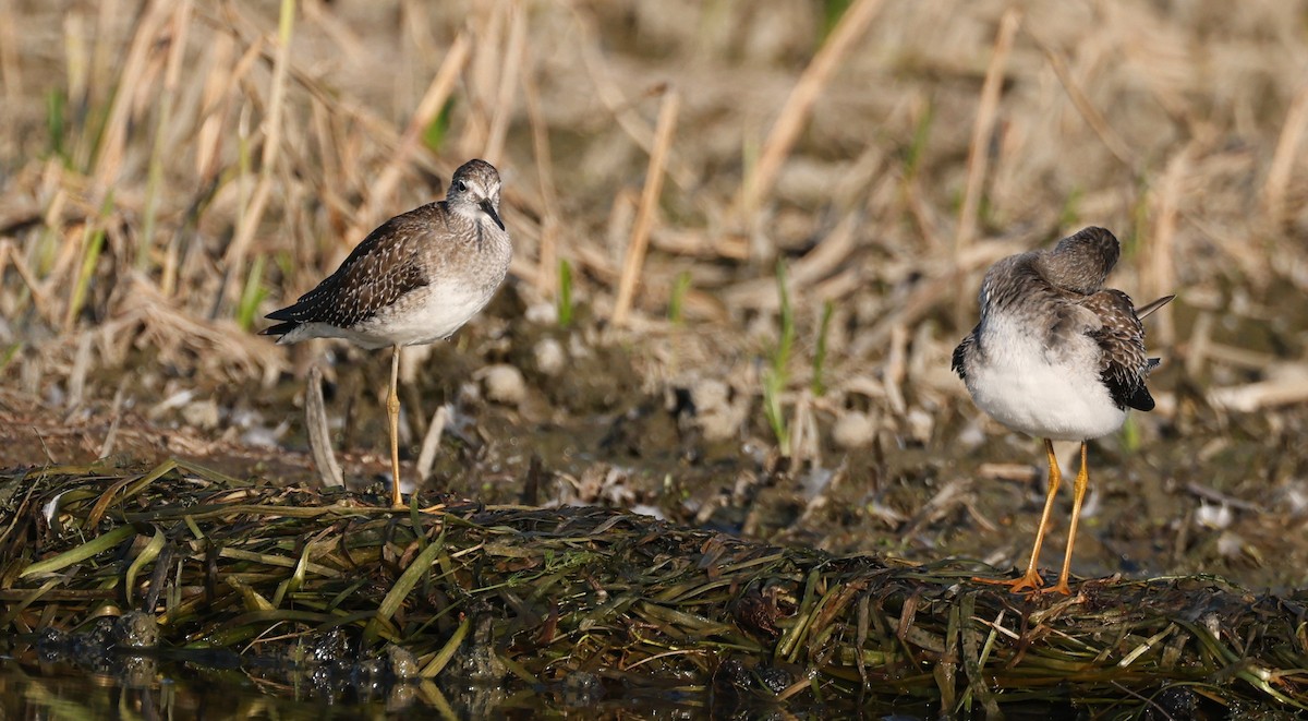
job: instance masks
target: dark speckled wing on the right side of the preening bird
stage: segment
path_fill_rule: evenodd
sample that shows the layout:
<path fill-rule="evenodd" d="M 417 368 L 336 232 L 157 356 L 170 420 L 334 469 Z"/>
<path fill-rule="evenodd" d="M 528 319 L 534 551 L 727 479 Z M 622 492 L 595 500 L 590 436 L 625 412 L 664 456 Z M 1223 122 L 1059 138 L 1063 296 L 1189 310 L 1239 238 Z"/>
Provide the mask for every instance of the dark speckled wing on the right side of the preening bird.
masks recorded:
<path fill-rule="evenodd" d="M 1121 290 L 1100 290 L 1087 296 L 1083 308 L 1095 313 L 1103 327 L 1091 332 L 1099 343 L 1100 377 L 1117 407 L 1152 411 L 1154 398 L 1144 387 L 1151 368 L 1144 355 L 1144 327 L 1135 315 L 1131 298 Z"/>

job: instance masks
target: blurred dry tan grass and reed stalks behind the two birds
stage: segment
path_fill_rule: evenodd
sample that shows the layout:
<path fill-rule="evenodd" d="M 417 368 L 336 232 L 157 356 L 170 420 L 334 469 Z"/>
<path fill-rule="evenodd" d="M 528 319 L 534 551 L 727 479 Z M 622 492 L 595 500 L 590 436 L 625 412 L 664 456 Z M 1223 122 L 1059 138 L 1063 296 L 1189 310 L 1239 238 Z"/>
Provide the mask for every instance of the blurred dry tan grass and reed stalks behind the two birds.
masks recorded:
<path fill-rule="evenodd" d="M 269 382 L 279 352 L 233 353 L 251 321 L 485 154 L 509 179 L 528 304 L 552 301 L 566 259 L 576 294 L 599 318 L 630 304 L 640 336 L 688 271 L 687 318 L 713 344 L 719 323 L 776 308 L 759 276 L 790 258 L 806 327 L 838 304 L 835 407 L 886 390 L 861 369 L 893 328 L 929 321 L 908 402 L 956 398 L 942 356 L 978 271 L 1086 222 L 1126 241 L 1118 285 L 1181 292 L 1158 345 L 1213 370 L 1214 399 L 1304 396 L 1291 381 L 1241 393 L 1207 368 L 1230 365 L 1239 330 L 1214 345 L 1171 319 L 1239 328 L 1264 293 L 1303 289 L 1304 96 L 1264 42 L 1301 48 L 1284 35 L 1291 5 L 1254 3 L 1239 22 L 1216 3 L 1037 8 L 997 34 L 1002 4 L 861 1 L 825 44 L 806 4 L 314 1 L 280 20 L 222 3 L 109 7 L 5 9 L 33 29 L 4 63 L 5 373 L 37 394 L 67 379 L 84 332 L 107 374 L 139 348 L 183 374 Z M 657 131 L 675 98 L 679 118 Z M 653 192 L 664 165 L 671 186 Z M 900 410 L 884 410 L 893 431 Z"/>

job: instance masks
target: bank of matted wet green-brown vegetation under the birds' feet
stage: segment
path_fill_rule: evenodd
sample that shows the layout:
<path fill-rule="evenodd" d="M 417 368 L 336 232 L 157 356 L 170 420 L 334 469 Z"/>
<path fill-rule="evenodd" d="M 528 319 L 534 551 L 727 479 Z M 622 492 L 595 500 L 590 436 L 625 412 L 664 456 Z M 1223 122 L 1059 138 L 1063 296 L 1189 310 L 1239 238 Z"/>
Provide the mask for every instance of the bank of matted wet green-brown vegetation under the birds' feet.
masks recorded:
<path fill-rule="evenodd" d="M 598 701 L 676 679 L 719 704 L 1308 711 L 1308 598 L 1213 577 L 1018 597 L 971 581 L 993 572 L 976 563 L 887 565 L 585 506 L 417 508 L 430 497 L 398 512 L 382 493 L 178 462 L 7 474 L 0 495 L 0 633 L 42 629 L 47 649 L 51 629 L 137 610 L 157 637 L 120 645 L 301 670 L 385 658 L 388 684 L 471 679 L 506 696 Z"/>

